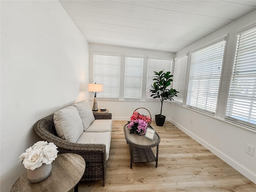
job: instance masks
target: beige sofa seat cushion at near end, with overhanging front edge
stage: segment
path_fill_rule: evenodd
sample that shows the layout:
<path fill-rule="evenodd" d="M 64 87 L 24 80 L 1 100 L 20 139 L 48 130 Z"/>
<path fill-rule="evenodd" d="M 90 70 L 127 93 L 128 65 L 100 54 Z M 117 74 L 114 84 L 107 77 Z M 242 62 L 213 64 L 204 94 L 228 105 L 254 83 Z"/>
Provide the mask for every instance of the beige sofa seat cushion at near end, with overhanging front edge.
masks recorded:
<path fill-rule="evenodd" d="M 76 143 L 80 144 L 105 144 L 106 160 L 108 160 L 111 142 L 111 132 L 83 132 Z"/>

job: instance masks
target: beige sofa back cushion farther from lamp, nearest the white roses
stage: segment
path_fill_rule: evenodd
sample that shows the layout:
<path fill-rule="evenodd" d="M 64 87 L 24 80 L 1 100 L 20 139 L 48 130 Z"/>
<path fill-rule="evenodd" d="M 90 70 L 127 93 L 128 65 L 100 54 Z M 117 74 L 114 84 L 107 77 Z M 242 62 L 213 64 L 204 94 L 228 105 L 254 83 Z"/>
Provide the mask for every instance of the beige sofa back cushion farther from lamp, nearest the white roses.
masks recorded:
<path fill-rule="evenodd" d="M 75 143 L 83 133 L 82 120 L 74 106 L 68 106 L 55 112 L 53 121 L 57 135 L 66 141 Z"/>

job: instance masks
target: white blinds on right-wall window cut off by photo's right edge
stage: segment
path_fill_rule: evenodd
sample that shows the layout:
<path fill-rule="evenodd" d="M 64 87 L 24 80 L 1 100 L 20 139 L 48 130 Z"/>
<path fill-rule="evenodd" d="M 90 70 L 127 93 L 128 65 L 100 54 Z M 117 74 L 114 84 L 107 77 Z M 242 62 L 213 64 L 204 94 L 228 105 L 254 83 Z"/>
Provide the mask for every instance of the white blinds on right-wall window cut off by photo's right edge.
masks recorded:
<path fill-rule="evenodd" d="M 256 28 L 237 35 L 226 118 L 256 128 Z"/>

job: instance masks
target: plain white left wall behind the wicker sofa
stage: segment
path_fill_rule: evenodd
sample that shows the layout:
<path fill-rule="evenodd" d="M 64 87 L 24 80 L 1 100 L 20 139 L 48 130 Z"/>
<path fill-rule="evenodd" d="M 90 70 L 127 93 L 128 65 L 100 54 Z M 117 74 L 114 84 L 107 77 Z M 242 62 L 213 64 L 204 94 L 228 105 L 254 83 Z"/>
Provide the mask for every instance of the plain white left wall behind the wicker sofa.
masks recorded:
<path fill-rule="evenodd" d="M 1 1 L 1 192 L 26 170 L 35 122 L 88 99 L 88 82 L 88 42 L 60 2 Z"/>

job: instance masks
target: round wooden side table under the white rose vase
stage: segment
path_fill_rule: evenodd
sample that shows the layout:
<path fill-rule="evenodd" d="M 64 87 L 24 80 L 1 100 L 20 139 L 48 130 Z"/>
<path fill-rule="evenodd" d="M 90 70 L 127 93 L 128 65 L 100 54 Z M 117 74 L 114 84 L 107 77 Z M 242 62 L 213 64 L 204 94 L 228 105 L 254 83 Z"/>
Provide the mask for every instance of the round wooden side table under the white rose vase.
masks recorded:
<path fill-rule="evenodd" d="M 75 188 L 82 178 L 85 162 L 82 156 L 73 153 L 58 154 L 52 162 L 52 172 L 45 180 L 38 183 L 28 181 L 25 171 L 12 185 L 10 192 L 68 192 Z"/>

